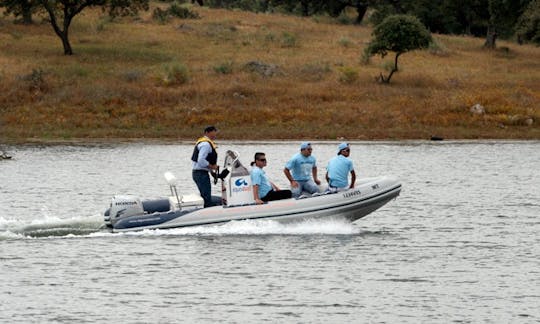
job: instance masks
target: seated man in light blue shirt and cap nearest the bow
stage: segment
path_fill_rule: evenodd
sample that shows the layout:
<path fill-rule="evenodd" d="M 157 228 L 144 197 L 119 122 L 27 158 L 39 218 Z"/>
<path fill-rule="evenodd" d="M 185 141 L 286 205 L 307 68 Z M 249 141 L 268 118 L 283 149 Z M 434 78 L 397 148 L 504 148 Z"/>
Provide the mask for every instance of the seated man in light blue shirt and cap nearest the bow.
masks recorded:
<path fill-rule="evenodd" d="M 349 159 L 351 148 L 348 143 L 341 143 L 338 146 L 338 155 L 333 157 L 326 167 L 326 181 L 330 191 L 343 191 L 354 188 L 356 173 L 353 162 Z M 351 184 L 348 177 L 351 173 Z"/>

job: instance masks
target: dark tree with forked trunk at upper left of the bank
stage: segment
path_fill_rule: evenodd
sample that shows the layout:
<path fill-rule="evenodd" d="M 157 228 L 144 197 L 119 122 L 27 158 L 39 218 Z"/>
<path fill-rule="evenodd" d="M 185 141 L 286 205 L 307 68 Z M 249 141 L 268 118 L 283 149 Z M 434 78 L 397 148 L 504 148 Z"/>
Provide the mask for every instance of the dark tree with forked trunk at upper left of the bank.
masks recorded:
<path fill-rule="evenodd" d="M 136 14 L 148 10 L 148 0 L 38 0 L 49 15 L 54 32 L 62 40 L 64 54 L 72 55 L 69 26 L 73 18 L 88 7 L 102 7 L 112 17 Z"/>

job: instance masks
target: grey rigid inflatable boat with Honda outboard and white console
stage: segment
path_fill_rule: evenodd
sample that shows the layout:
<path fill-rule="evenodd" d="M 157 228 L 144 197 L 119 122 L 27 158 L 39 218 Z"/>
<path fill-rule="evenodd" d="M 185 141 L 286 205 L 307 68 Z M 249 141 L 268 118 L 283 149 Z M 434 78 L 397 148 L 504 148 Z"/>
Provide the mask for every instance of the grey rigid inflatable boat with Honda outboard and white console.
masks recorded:
<path fill-rule="evenodd" d="M 302 195 L 257 205 L 249 170 L 234 151 L 227 151 L 223 171 L 214 175 L 215 183 L 220 179 L 222 185 L 222 197 L 213 197 L 219 205 L 203 208 L 200 195 L 180 195 L 174 175 L 166 172 L 165 178 L 171 189 L 170 197 L 141 200 L 136 196 L 114 196 L 104 214 L 105 225 L 113 232 L 126 232 L 247 219 L 300 222 L 341 218 L 354 222 L 396 198 L 401 191 L 401 183 L 396 178 L 382 176 L 359 179 L 355 188 L 346 191 Z"/>

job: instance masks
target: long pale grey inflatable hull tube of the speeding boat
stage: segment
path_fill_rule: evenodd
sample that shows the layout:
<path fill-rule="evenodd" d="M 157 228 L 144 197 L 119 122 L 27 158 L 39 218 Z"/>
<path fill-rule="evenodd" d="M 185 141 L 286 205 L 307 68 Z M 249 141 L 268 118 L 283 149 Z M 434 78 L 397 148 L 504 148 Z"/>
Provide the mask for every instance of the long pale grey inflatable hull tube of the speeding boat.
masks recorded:
<path fill-rule="evenodd" d="M 396 198 L 400 192 L 401 183 L 393 177 L 369 178 L 359 180 L 353 189 L 316 197 L 270 201 L 263 205 L 214 206 L 131 215 L 114 219 L 110 226 L 113 232 L 126 232 L 247 219 L 300 222 L 306 219 L 341 218 L 354 222 Z"/>

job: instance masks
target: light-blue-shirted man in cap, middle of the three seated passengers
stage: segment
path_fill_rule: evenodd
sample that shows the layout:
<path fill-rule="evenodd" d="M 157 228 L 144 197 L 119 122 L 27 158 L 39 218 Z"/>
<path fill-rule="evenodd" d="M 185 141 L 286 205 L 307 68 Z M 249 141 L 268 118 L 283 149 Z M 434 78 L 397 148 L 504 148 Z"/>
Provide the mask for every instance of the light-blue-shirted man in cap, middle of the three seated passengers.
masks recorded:
<path fill-rule="evenodd" d="M 317 179 L 317 160 L 311 155 L 312 151 L 311 143 L 300 144 L 300 153 L 296 153 L 283 169 L 283 173 L 291 182 L 291 191 L 295 198 L 300 196 L 302 191 L 310 194 L 319 192 L 318 185 L 321 181 Z"/>

